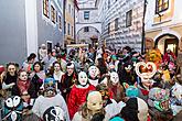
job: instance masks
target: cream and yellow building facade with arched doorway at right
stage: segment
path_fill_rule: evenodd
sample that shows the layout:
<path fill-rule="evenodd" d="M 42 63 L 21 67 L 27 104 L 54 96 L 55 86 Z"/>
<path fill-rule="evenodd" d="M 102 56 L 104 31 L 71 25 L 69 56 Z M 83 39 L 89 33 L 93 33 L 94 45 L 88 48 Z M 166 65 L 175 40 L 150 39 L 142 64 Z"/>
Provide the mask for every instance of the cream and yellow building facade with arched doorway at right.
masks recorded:
<path fill-rule="evenodd" d="M 181 0 L 148 0 L 146 37 L 162 54 L 170 48 L 176 55 L 182 48 Z"/>

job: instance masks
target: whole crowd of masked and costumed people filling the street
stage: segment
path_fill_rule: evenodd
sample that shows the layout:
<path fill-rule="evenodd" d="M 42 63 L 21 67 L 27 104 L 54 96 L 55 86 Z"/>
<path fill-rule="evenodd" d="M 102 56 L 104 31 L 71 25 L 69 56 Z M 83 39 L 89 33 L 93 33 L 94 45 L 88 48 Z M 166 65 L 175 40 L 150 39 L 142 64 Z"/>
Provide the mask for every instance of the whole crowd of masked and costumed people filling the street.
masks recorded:
<path fill-rule="evenodd" d="M 2 121 L 181 121 L 176 56 L 126 46 L 64 48 L 0 66 Z"/>

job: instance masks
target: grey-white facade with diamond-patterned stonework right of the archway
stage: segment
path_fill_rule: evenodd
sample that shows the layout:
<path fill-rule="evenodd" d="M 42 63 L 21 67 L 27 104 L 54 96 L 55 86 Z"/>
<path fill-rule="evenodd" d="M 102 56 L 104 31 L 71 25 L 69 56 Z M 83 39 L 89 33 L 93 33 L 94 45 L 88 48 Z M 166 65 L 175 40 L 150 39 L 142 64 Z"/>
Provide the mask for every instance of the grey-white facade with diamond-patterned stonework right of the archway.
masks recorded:
<path fill-rule="evenodd" d="M 114 48 L 141 51 L 144 0 L 96 0 L 101 22 L 101 43 Z"/>

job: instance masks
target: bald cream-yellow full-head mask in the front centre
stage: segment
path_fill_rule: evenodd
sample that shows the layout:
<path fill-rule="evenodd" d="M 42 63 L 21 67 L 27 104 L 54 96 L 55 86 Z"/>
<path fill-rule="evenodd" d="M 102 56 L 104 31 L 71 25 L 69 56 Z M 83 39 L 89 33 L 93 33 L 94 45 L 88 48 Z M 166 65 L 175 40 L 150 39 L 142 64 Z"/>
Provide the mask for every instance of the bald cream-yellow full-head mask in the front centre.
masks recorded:
<path fill-rule="evenodd" d="M 99 91 L 92 91 L 87 96 L 87 108 L 94 112 L 97 112 L 103 108 L 103 99 Z"/>

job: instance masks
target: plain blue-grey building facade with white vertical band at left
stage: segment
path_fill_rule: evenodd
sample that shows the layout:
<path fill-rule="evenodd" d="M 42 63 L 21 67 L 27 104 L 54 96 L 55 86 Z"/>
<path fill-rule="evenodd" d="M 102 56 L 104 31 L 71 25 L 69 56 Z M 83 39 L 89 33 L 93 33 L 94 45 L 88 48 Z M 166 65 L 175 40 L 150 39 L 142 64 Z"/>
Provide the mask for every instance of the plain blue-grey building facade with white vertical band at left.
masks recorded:
<path fill-rule="evenodd" d="M 1 64 L 22 64 L 41 44 L 63 43 L 62 0 L 1 0 L 0 8 Z"/>

